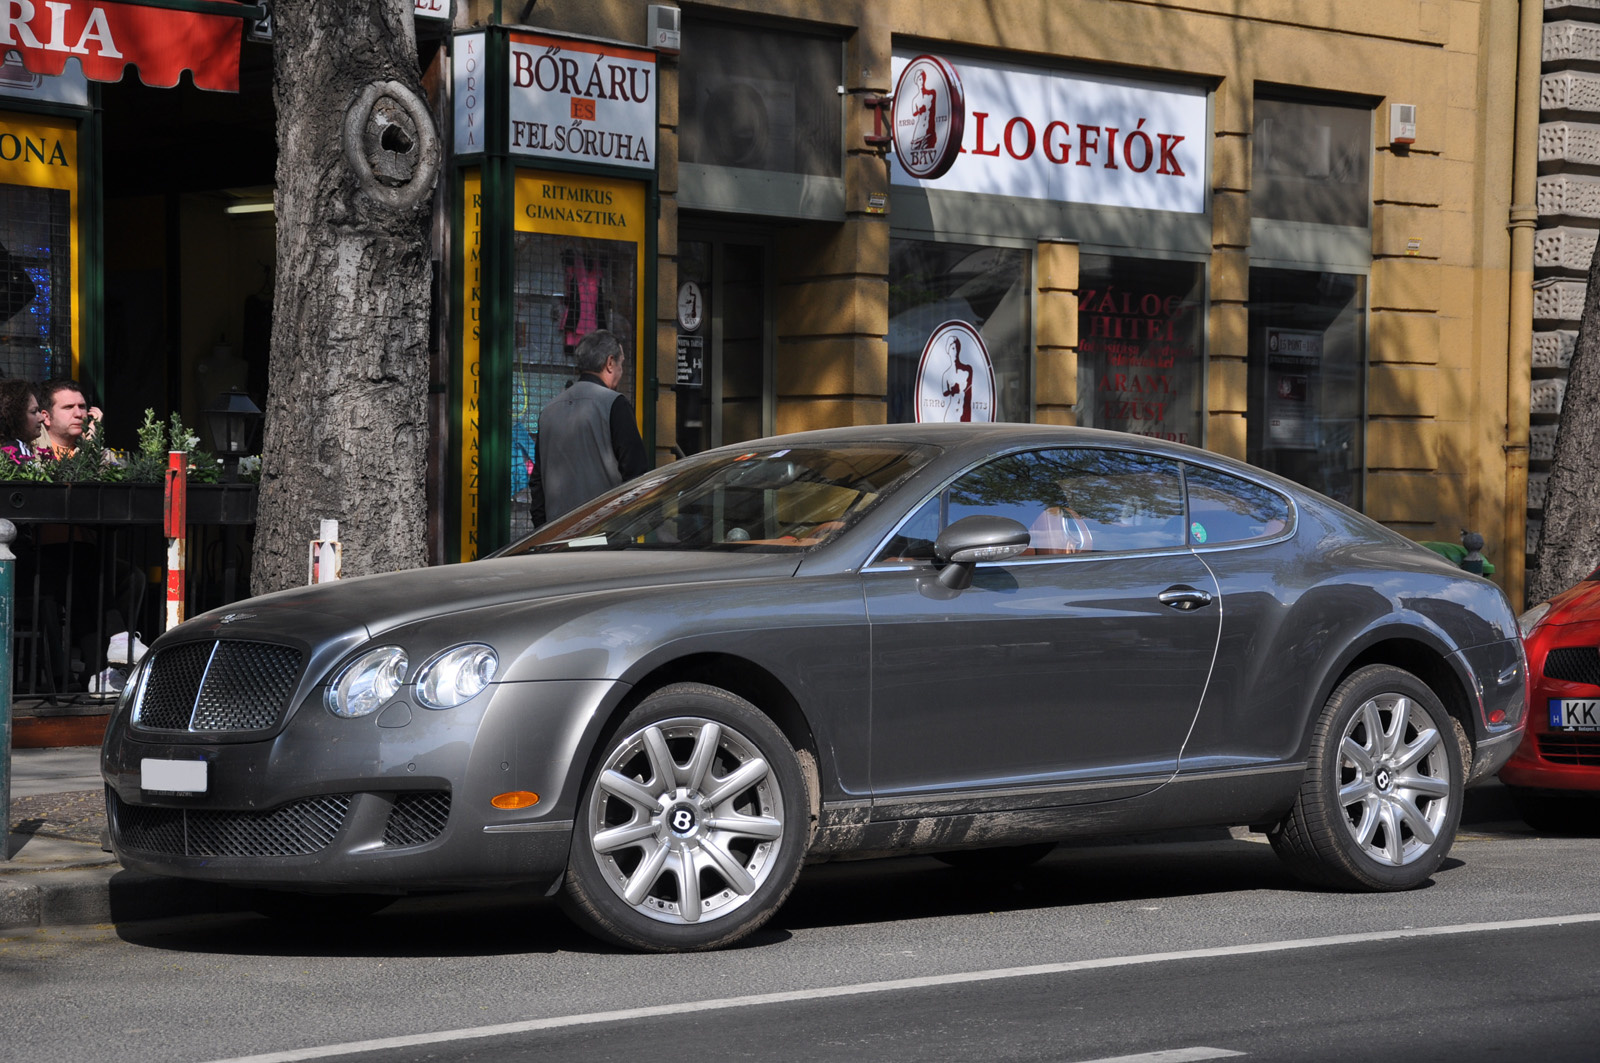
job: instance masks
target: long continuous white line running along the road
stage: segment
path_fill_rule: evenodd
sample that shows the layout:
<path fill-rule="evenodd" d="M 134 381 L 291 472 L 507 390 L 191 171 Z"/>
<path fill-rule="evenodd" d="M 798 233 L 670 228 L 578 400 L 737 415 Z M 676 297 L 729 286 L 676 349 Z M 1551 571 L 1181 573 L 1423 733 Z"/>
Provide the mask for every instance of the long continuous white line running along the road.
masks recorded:
<path fill-rule="evenodd" d="M 1066 964 L 1000 967 L 995 970 L 971 970 L 955 975 L 926 975 L 922 978 L 862 981 L 850 986 L 790 989 L 787 993 L 757 993 L 752 996 L 741 996 L 741 997 L 683 1001 L 682 1004 L 656 1004 L 653 1007 L 630 1007 L 614 1012 L 587 1012 L 584 1015 L 552 1015 L 550 1018 L 530 1018 L 520 1023 L 470 1026 L 466 1029 L 445 1029 L 432 1034 L 405 1034 L 398 1037 L 378 1037 L 373 1041 L 350 1041 L 346 1044 L 317 1045 L 310 1049 L 290 1049 L 286 1052 L 264 1052 L 261 1055 L 238 1055 L 238 1057 L 230 1057 L 227 1060 L 214 1060 L 213 1063 L 302 1063 L 304 1060 L 326 1060 L 331 1057 L 357 1055 L 362 1052 L 392 1052 L 395 1049 L 416 1049 L 430 1044 L 448 1044 L 451 1041 L 472 1041 L 477 1037 L 506 1037 L 509 1034 L 536 1033 L 541 1029 L 562 1029 L 566 1026 L 597 1026 L 602 1023 L 619 1023 L 635 1018 L 670 1018 L 677 1015 L 690 1015 L 694 1012 L 720 1012 L 736 1007 L 760 1007 L 766 1004 L 827 1001 L 834 997 L 866 996 L 869 993 L 899 993 L 904 989 L 933 989 L 939 986 L 970 985 L 974 981 L 998 981 L 1002 978 L 1032 978 L 1037 975 L 1066 975 L 1080 970 L 1109 970 L 1114 967 L 1166 964 L 1171 961 L 1182 961 L 1182 959 L 1261 956 L 1266 953 L 1291 953 L 1294 949 L 1317 949 L 1317 948 L 1328 948 L 1333 945 L 1365 945 L 1371 941 L 1400 941 L 1405 938 L 1437 938 L 1456 933 L 1488 933 L 1494 930 L 1531 930 L 1538 927 L 1565 927 L 1584 922 L 1600 922 L 1600 913 L 1586 913 L 1579 916 L 1544 916 L 1539 919 L 1506 919 L 1501 922 L 1464 922 L 1450 927 L 1405 927 L 1402 930 L 1376 930 L 1371 933 L 1339 933 L 1326 938 L 1261 941 L 1258 945 L 1224 945 L 1208 949 L 1186 949 L 1181 953 L 1146 953 L 1142 956 L 1106 956 L 1102 959 L 1080 959 Z M 1128 1057 L 1128 1058 L 1144 1058 L 1144 1057 Z M 1152 1057 L 1152 1058 L 1162 1058 L 1162 1057 Z"/>

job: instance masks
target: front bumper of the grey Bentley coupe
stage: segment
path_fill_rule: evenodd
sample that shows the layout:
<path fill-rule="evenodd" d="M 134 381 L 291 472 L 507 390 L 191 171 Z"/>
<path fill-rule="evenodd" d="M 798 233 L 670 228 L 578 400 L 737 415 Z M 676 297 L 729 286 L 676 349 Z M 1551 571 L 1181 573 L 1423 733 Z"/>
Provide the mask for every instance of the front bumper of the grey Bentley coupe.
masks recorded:
<path fill-rule="evenodd" d="M 610 682 L 498 684 L 435 712 L 406 692 L 355 720 L 310 696 L 259 741 L 141 732 L 118 717 L 101 757 L 112 844 L 126 868 L 235 885 L 544 887 L 566 866 L 574 765 L 614 695 Z M 146 759 L 205 762 L 205 789 L 144 789 Z M 490 804 L 509 791 L 539 800 Z"/>

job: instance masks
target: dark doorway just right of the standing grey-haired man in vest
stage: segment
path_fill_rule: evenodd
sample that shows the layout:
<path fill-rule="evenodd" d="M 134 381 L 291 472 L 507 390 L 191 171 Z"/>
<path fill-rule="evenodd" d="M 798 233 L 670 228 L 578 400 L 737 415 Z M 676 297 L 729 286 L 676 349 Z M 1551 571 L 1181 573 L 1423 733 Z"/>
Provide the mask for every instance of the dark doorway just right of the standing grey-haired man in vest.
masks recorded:
<path fill-rule="evenodd" d="M 773 432 L 771 240 L 685 231 L 678 240 L 680 455 Z"/>

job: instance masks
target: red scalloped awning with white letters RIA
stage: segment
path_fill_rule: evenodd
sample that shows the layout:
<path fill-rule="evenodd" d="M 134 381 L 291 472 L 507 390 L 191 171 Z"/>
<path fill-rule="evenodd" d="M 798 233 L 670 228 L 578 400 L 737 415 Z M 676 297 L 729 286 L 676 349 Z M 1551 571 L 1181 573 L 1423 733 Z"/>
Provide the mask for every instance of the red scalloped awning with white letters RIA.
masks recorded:
<path fill-rule="evenodd" d="M 237 93 L 245 19 L 262 14 L 234 0 L 0 0 L 0 48 L 34 74 L 77 59 L 91 82 L 120 82 L 133 64 L 155 88 L 189 70 L 198 88 Z"/>

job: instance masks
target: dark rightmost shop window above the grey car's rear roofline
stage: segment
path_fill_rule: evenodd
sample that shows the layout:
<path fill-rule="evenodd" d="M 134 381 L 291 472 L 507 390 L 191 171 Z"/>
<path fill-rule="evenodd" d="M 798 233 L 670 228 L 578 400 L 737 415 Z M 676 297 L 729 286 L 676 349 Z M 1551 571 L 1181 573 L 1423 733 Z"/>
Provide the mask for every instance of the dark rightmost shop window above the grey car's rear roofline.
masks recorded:
<path fill-rule="evenodd" d="M 1248 459 L 1362 506 L 1366 279 L 1250 271 Z"/>

